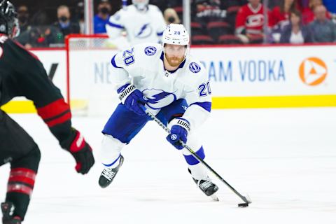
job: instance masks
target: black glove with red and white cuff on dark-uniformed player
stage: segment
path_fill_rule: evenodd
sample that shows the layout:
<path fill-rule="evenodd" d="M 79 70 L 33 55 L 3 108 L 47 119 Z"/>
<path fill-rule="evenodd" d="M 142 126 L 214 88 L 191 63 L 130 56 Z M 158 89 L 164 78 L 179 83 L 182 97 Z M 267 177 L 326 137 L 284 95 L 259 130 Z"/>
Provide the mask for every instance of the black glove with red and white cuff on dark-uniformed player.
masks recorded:
<path fill-rule="evenodd" d="M 71 153 L 76 160 L 76 171 L 80 174 L 87 174 L 94 165 L 92 148 L 87 144 L 84 137 L 78 130 L 71 131 L 70 144 L 65 149 Z"/>

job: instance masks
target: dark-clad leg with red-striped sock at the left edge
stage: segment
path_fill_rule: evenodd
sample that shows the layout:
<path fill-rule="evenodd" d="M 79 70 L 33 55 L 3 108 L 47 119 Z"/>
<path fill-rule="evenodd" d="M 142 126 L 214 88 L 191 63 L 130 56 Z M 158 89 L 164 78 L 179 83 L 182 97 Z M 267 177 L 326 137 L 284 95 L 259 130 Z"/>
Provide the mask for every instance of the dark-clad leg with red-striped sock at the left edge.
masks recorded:
<path fill-rule="evenodd" d="M 34 140 L 6 113 L 0 111 L 0 165 L 10 162 L 3 223 L 20 223 L 28 209 L 41 153 Z"/>

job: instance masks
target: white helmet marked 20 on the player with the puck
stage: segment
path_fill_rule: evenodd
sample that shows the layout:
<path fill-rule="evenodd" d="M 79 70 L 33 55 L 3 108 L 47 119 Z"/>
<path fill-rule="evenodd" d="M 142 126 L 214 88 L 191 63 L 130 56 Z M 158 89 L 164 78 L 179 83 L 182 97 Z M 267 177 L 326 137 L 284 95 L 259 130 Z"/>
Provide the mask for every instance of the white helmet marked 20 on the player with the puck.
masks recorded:
<path fill-rule="evenodd" d="M 170 24 L 162 34 L 162 43 L 189 45 L 189 34 L 182 24 Z"/>

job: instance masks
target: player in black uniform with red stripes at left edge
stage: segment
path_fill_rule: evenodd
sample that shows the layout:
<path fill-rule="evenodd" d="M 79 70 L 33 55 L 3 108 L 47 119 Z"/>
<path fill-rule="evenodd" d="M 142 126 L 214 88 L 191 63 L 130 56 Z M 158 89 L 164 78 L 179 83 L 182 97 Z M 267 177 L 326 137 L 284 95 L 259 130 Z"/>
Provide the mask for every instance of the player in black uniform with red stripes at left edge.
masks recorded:
<path fill-rule="evenodd" d="M 48 79 L 41 62 L 10 39 L 18 34 L 18 19 L 13 4 L 7 0 L 0 1 L 0 33 L 0 106 L 17 96 L 33 101 L 38 116 L 76 160 L 76 171 L 86 174 L 94 165 L 92 149 L 80 132 L 71 127 L 69 105 Z M 0 166 L 10 162 L 6 202 L 1 203 L 3 223 L 24 220 L 40 156 L 29 134 L 0 110 Z"/>

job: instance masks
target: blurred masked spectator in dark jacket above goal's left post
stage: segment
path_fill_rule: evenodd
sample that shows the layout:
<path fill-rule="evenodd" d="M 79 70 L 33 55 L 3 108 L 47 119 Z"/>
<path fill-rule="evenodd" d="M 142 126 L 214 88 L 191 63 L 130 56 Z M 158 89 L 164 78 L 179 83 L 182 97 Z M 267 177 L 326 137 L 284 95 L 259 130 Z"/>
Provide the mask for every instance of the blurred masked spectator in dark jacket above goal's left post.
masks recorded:
<path fill-rule="evenodd" d="M 62 31 L 62 41 L 64 41 L 66 35 L 79 34 L 79 24 L 70 20 L 71 14 L 68 6 L 62 5 L 57 8 L 57 18 L 58 21 L 55 22 L 54 26 Z"/>

